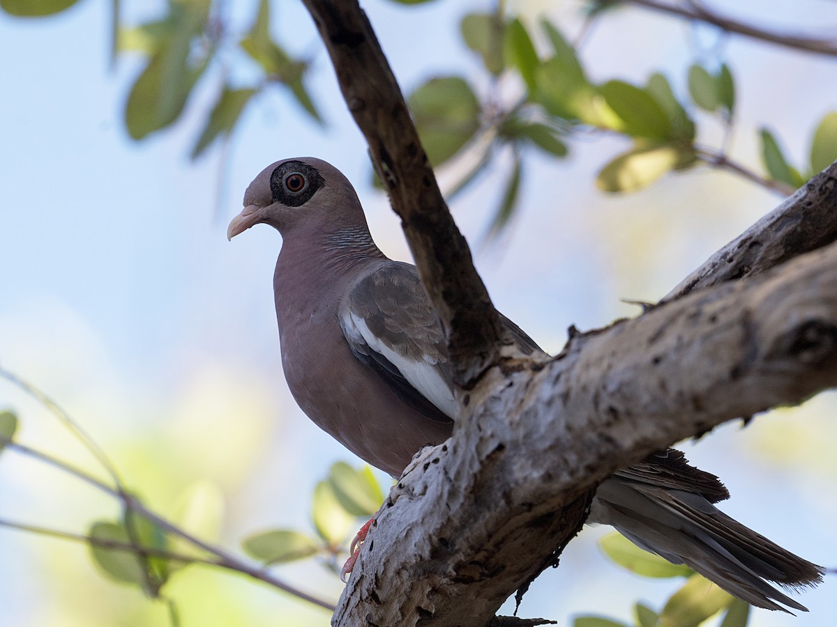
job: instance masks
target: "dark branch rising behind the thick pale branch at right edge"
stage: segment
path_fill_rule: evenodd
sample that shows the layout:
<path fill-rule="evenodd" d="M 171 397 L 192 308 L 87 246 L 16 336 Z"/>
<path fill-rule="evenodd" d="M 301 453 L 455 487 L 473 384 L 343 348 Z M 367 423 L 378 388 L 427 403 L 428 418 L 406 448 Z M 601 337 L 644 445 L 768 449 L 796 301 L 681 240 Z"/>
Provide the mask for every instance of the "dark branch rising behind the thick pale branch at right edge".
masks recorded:
<path fill-rule="evenodd" d="M 837 240 L 837 161 L 793 196 L 713 254 L 666 294 L 663 302 L 696 288 L 755 276 Z"/>

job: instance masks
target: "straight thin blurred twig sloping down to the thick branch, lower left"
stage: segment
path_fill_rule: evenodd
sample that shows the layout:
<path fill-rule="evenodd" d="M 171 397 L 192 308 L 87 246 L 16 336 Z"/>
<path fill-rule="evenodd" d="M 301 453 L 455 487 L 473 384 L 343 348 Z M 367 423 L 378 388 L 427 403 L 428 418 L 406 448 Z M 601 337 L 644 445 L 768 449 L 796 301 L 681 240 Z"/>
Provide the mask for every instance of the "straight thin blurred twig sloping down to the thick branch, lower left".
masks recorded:
<path fill-rule="evenodd" d="M 152 512 L 145 506 L 145 504 L 137 500 L 136 497 L 132 497 L 127 492 L 120 492 L 119 490 L 116 490 L 108 486 L 106 483 L 100 482 L 98 479 L 80 470 L 79 468 L 71 466 L 68 463 L 61 461 L 54 456 L 50 456 L 49 454 L 44 453 L 43 451 L 37 451 L 29 446 L 24 446 L 23 444 L 18 444 L 18 442 L 11 441 L 7 437 L 0 436 L 0 444 L 5 445 L 8 448 L 8 450 L 18 451 L 23 455 L 31 456 L 34 459 L 49 464 L 50 466 L 59 468 L 59 470 L 69 473 L 73 477 L 80 479 L 81 481 L 89 484 L 90 486 L 93 486 L 99 489 L 100 491 L 109 494 L 111 497 L 116 497 L 123 503 L 123 505 L 130 512 L 134 512 L 136 514 L 141 515 L 142 517 L 145 517 L 146 519 L 148 519 L 149 522 L 162 529 L 162 531 L 171 533 L 172 535 L 175 535 L 187 541 L 187 543 L 192 544 L 194 547 L 202 548 L 207 553 L 215 555 L 218 558 L 218 560 L 215 563 L 220 567 L 229 568 L 230 570 L 235 570 L 239 573 L 247 574 L 250 577 L 253 577 L 254 579 L 264 581 L 265 584 L 270 584 L 275 588 L 284 590 L 288 594 L 293 594 L 295 597 L 306 600 L 312 604 L 319 605 L 321 608 L 328 609 L 332 612 L 334 611 L 333 604 L 330 604 L 322 599 L 317 599 L 316 597 L 311 596 L 311 594 L 302 592 L 300 589 L 296 589 L 290 584 L 285 584 L 284 581 L 275 578 L 270 573 L 264 571 L 264 569 L 255 568 L 251 566 L 249 563 L 244 562 L 242 559 L 239 559 L 234 554 L 227 552 L 223 548 L 218 548 L 211 544 L 205 543 L 203 542 L 203 540 L 196 538 L 191 533 L 187 533 L 183 529 L 177 527 L 177 525 L 170 523 L 165 518 L 159 516 L 157 513 Z M 136 550 L 140 550 L 141 548 L 141 546 L 135 546 Z"/>

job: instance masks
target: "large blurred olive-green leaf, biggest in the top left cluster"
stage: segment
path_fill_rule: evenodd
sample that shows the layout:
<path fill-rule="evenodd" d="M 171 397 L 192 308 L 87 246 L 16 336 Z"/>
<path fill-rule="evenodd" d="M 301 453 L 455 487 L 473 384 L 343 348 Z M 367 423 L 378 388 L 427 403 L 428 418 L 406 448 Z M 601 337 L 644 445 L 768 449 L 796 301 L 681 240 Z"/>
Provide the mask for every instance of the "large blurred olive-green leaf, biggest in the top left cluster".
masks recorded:
<path fill-rule="evenodd" d="M 125 121 L 135 140 L 177 120 L 208 63 L 207 58 L 189 61 L 192 40 L 203 33 L 208 19 L 208 0 L 171 3 L 169 7 L 167 35 L 128 95 Z"/>

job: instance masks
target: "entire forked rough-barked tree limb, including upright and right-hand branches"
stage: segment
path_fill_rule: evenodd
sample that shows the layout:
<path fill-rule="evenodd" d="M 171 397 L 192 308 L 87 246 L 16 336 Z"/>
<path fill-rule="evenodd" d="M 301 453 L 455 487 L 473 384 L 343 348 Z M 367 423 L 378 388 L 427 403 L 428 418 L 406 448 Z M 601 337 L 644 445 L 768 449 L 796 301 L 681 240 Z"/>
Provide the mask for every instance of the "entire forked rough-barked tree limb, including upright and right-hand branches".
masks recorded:
<path fill-rule="evenodd" d="M 498 338 L 365 15 L 348 0 L 304 2 L 467 383 L 454 435 L 421 451 L 393 488 L 332 623 L 516 624 L 496 610 L 557 563 L 603 479 L 837 385 L 835 166 L 664 303 L 577 334 L 554 358 L 525 359 Z"/>

